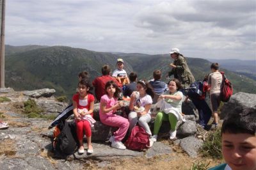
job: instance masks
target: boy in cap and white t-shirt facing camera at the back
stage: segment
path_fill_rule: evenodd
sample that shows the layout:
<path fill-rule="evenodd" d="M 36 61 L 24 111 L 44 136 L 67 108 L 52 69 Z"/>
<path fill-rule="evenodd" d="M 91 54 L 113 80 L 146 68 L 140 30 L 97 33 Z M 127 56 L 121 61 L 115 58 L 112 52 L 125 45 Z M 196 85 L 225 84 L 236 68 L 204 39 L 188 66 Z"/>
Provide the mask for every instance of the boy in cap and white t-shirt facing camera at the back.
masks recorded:
<path fill-rule="evenodd" d="M 127 76 L 127 73 L 124 70 L 124 60 L 122 58 L 118 58 L 116 61 L 116 70 L 114 70 L 112 77 L 115 77 L 120 84 L 123 86 L 125 84 L 129 84 L 129 78 Z"/>

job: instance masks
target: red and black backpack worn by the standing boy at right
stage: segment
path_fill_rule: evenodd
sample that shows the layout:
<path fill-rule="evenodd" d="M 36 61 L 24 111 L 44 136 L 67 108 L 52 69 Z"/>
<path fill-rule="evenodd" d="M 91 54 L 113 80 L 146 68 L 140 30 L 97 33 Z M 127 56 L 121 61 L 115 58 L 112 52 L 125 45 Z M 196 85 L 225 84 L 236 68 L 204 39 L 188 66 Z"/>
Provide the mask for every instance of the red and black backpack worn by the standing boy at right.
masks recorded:
<path fill-rule="evenodd" d="M 227 79 L 224 72 L 220 72 L 222 75 L 222 82 L 220 87 L 220 100 L 222 102 L 228 102 L 229 98 L 233 94 L 233 87 L 231 82 Z"/>

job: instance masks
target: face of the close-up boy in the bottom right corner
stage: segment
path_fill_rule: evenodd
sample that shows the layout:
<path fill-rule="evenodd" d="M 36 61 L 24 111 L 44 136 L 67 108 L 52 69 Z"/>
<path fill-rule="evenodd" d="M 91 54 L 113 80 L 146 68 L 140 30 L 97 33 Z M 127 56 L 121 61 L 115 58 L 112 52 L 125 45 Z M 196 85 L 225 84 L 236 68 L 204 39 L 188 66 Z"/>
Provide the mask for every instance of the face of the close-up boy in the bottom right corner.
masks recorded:
<path fill-rule="evenodd" d="M 232 170 L 256 170 L 256 135 L 222 134 L 222 154 Z"/>

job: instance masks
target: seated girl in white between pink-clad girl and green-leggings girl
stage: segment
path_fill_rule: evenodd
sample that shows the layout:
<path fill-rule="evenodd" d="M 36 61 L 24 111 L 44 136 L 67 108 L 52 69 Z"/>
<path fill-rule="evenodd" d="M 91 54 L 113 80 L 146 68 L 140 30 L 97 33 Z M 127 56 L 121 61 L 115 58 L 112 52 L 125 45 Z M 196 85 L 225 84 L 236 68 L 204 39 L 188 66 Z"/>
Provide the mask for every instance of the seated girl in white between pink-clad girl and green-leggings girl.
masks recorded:
<path fill-rule="evenodd" d="M 136 123 L 143 127 L 150 139 L 150 146 L 154 143 L 152 141 L 152 133 L 148 126 L 148 122 L 151 120 L 150 107 L 152 105 L 152 98 L 154 97 L 154 92 L 152 87 L 148 82 L 143 80 L 137 82 L 137 91 L 134 91 L 131 95 L 129 109 L 129 132 L 135 127 Z"/>

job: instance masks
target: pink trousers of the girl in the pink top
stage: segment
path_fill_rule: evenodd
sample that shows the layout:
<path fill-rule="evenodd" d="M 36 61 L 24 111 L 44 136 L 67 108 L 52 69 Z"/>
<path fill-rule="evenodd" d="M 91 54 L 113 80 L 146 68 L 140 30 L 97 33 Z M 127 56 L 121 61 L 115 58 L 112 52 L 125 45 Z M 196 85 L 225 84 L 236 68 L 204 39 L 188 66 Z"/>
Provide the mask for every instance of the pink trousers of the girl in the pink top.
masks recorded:
<path fill-rule="evenodd" d="M 129 121 L 122 116 L 111 114 L 106 118 L 100 119 L 100 121 L 110 127 L 118 127 L 118 130 L 114 132 L 115 141 L 122 141 L 129 128 Z"/>

